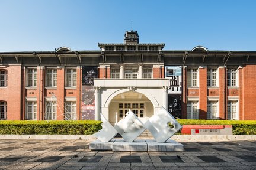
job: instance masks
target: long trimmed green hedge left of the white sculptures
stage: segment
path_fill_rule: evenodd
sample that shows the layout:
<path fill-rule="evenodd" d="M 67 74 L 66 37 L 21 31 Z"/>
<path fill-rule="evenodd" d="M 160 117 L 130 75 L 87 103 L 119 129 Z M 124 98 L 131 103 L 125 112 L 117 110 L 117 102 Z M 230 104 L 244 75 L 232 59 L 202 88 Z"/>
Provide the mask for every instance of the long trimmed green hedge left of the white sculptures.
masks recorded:
<path fill-rule="evenodd" d="M 101 129 L 101 122 L 79 121 L 0 121 L 0 134 L 92 135 Z"/>

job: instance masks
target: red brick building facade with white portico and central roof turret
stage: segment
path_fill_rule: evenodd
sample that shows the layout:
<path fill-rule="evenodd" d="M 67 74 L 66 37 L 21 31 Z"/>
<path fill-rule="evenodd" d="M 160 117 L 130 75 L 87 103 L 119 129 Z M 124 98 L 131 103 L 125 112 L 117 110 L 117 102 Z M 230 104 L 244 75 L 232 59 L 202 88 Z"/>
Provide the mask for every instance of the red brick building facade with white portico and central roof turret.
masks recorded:
<path fill-rule="evenodd" d="M 141 120 L 164 107 L 180 119 L 256 120 L 256 51 L 163 50 L 124 43 L 97 51 L 0 53 L 1 120 Z"/>

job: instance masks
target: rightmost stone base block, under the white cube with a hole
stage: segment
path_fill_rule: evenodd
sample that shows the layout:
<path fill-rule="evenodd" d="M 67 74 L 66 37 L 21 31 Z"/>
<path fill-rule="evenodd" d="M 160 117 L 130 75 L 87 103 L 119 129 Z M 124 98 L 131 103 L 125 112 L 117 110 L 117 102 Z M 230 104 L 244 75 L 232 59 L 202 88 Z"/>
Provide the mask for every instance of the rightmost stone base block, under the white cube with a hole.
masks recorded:
<path fill-rule="evenodd" d="M 184 146 L 174 140 L 167 140 L 167 142 L 159 143 L 153 139 L 145 140 L 148 145 L 148 152 L 183 152 Z"/>

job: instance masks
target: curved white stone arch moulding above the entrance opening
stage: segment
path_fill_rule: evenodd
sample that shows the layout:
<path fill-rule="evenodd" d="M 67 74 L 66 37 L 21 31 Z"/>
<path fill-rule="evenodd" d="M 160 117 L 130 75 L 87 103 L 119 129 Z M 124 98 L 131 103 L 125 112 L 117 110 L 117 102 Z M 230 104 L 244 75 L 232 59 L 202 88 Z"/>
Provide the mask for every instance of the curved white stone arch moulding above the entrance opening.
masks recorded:
<path fill-rule="evenodd" d="M 104 103 L 104 107 L 109 107 L 110 102 L 111 102 L 111 100 L 112 100 L 114 97 L 116 97 L 117 95 L 119 95 L 119 94 L 121 94 L 121 93 L 126 93 L 126 92 L 130 92 L 129 88 L 116 90 L 114 93 L 112 93 L 112 94 L 107 98 L 107 100 L 106 100 L 105 103 Z M 158 103 L 158 101 L 155 99 L 155 97 L 153 97 L 153 96 L 152 96 L 150 93 L 148 93 L 147 91 L 142 90 L 142 89 L 136 89 L 136 90 L 134 90 L 134 92 L 141 93 L 141 94 L 143 94 L 144 96 L 146 96 L 146 97 L 151 101 L 151 103 L 153 104 L 153 107 L 160 107 L 160 106 L 159 106 L 159 103 Z"/>

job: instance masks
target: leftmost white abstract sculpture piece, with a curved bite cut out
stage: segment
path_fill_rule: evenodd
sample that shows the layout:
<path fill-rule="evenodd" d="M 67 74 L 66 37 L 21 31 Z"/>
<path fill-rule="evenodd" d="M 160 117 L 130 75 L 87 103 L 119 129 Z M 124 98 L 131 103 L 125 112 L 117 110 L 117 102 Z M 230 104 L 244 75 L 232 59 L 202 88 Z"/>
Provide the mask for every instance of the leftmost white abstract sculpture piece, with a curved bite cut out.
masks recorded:
<path fill-rule="evenodd" d="M 99 130 L 97 133 L 94 133 L 94 136 L 99 139 L 101 142 L 109 142 L 117 135 L 116 129 L 105 119 L 103 114 L 101 113 L 101 123 L 102 129 Z"/>

